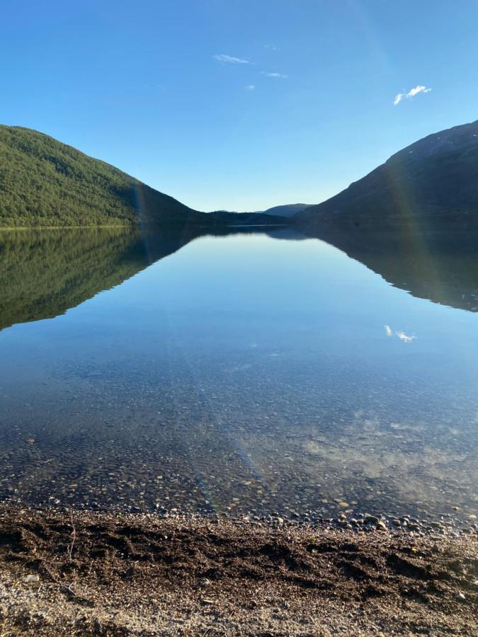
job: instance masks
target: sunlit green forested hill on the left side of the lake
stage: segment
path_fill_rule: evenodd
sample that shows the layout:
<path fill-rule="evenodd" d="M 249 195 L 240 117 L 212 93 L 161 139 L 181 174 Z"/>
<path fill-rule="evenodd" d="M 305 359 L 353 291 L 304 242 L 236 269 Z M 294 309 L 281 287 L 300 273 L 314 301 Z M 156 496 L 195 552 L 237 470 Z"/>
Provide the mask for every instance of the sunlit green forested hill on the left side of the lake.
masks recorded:
<path fill-rule="evenodd" d="M 204 217 L 52 137 L 0 125 L 0 226 L 184 224 Z"/>

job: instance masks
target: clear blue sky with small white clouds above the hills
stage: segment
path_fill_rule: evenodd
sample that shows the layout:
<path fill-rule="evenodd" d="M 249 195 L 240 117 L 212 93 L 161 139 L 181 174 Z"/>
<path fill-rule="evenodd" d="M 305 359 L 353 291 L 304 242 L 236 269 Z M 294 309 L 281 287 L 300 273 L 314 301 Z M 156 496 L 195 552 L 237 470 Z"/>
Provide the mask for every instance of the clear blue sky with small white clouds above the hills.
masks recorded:
<path fill-rule="evenodd" d="M 4 0 L 1 14 L 1 123 L 198 210 L 320 202 L 478 118 L 478 0 Z"/>

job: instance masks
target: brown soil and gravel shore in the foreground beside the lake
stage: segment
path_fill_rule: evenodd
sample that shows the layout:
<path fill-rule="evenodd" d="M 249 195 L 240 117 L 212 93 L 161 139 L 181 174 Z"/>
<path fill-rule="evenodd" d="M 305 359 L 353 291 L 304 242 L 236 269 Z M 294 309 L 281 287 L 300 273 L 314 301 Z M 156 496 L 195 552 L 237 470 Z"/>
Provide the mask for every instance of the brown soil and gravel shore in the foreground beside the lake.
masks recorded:
<path fill-rule="evenodd" d="M 0 635 L 477 635 L 477 546 L 0 507 Z"/>

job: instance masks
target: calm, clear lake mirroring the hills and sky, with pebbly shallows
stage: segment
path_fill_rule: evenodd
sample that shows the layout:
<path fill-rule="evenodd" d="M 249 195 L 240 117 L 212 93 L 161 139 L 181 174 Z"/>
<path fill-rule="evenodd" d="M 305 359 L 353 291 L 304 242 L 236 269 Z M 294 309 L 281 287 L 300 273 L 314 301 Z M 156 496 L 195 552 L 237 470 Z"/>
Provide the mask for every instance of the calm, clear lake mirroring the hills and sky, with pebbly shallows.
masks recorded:
<path fill-rule="evenodd" d="M 474 512 L 477 254 L 344 249 L 1 232 L 0 498 Z"/>

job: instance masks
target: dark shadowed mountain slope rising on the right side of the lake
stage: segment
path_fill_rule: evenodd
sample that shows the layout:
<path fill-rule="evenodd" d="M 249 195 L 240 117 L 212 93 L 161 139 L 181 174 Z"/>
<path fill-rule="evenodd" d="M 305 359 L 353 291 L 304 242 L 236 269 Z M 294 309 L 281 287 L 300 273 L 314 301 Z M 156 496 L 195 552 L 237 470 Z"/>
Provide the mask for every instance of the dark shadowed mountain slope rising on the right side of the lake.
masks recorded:
<path fill-rule="evenodd" d="M 335 231 L 477 225 L 478 121 L 420 139 L 294 220 Z"/>

